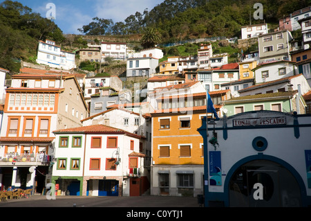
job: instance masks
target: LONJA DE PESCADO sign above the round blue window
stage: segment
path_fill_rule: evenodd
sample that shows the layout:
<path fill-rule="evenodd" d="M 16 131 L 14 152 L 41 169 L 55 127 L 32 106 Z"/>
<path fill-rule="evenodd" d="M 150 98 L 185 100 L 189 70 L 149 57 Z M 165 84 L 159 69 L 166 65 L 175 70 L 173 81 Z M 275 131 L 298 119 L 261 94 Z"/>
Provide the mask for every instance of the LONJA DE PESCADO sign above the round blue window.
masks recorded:
<path fill-rule="evenodd" d="M 266 118 L 244 118 L 234 119 L 234 127 L 245 127 L 245 126 L 266 126 L 266 125 L 286 125 L 285 116 L 279 117 L 266 117 Z"/>

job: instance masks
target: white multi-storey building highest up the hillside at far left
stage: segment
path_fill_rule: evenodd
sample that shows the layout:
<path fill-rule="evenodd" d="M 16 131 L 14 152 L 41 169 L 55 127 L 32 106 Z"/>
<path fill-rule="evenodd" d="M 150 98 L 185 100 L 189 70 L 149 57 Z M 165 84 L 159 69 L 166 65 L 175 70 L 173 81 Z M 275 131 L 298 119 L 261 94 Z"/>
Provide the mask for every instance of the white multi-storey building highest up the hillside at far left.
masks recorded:
<path fill-rule="evenodd" d="M 39 41 L 37 63 L 57 69 L 74 69 L 75 53 L 63 51 L 54 41 L 46 39 L 46 42 Z"/>

